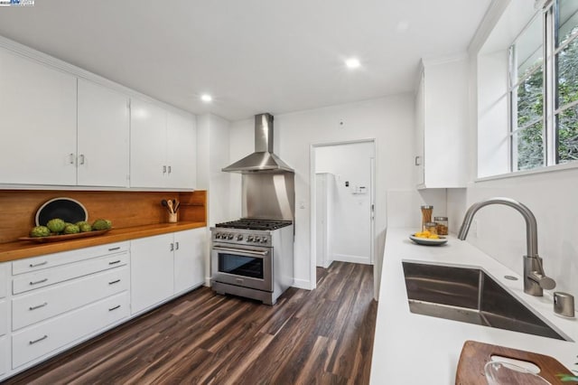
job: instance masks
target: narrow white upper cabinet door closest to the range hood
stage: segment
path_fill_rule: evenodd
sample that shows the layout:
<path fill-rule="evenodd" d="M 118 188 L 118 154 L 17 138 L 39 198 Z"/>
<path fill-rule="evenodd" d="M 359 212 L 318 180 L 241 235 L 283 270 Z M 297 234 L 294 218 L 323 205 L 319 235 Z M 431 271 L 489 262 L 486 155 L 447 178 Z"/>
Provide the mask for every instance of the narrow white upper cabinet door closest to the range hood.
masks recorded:
<path fill-rule="evenodd" d="M 192 189 L 197 179 L 197 128 L 192 116 L 167 115 L 167 187 Z"/>

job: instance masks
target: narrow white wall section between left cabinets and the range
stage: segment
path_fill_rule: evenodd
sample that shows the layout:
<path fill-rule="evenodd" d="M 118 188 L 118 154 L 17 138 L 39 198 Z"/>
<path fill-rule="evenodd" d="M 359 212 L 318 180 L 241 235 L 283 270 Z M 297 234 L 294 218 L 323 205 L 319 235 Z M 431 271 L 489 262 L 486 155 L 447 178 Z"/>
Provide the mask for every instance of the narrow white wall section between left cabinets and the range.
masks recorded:
<path fill-rule="evenodd" d="M 229 221 L 229 185 L 227 173 L 221 168 L 228 161 L 229 122 L 211 114 L 197 117 L 197 188 L 207 190 L 207 224 L 214 226 L 221 221 Z M 207 239 L 210 231 L 207 228 Z M 210 242 L 205 249 L 205 280 L 210 280 Z"/>

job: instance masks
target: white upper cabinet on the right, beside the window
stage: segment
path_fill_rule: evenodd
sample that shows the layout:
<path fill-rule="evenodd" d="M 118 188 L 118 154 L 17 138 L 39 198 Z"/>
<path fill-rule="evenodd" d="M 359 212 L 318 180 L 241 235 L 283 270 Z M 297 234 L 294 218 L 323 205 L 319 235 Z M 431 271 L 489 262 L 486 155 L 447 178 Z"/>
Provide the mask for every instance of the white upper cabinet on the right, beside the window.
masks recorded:
<path fill-rule="evenodd" d="M 467 183 L 468 60 L 424 61 L 415 96 L 418 188 Z"/>

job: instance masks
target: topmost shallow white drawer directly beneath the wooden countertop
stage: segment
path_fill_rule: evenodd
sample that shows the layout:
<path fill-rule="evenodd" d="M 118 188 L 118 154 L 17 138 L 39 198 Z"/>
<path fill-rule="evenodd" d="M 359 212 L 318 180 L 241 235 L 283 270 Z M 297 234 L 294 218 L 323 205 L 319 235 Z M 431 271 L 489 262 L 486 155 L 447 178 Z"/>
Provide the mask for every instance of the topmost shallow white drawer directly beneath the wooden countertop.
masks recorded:
<path fill-rule="evenodd" d="M 106 256 L 111 253 L 122 253 L 129 249 L 130 242 L 107 243 L 86 249 L 64 251 L 47 254 L 42 257 L 19 259 L 12 262 L 12 275 L 29 273 L 31 271 L 53 268 L 68 263 L 79 262 L 84 259 Z"/>

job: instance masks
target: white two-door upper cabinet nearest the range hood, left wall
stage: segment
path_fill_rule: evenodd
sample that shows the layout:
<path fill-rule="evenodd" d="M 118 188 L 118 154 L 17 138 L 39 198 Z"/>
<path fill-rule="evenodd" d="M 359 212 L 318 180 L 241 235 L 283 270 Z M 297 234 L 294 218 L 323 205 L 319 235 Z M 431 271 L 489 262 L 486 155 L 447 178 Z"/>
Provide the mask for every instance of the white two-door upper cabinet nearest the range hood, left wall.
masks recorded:
<path fill-rule="evenodd" d="M 194 118 L 137 99 L 131 100 L 130 110 L 131 187 L 194 188 Z"/>

